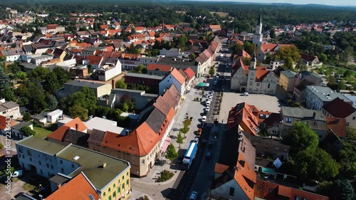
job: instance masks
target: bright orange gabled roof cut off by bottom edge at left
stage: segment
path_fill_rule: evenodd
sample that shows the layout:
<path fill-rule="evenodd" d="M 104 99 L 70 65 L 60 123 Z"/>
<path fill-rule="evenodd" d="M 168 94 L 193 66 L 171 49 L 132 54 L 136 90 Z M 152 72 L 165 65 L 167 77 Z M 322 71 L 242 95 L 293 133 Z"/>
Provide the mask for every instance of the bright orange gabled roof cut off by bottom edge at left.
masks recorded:
<path fill-rule="evenodd" d="M 83 172 L 68 181 L 68 183 L 61 186 L 54 191 L 48 200 L 62 200 L 62 199 L 90 199 L 88 196 L 93 196 L 93 199 L 100 199 L 100 195 L 92 186 L 90 181 L 84 176 Z"/>

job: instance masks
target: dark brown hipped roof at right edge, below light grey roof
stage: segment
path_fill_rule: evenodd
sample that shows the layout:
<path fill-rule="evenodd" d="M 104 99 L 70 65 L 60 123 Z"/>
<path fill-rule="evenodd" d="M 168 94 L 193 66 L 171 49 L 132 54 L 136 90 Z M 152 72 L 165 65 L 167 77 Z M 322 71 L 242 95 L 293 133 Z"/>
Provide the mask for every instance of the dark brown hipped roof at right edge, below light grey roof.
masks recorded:
<path fill-rule="evenodd" d="M 338 118 L 346 118 L 356 112 L 355 107 L 340 98 L 335 98 L 327 105 L 324 105 L 323 110 Z"/>

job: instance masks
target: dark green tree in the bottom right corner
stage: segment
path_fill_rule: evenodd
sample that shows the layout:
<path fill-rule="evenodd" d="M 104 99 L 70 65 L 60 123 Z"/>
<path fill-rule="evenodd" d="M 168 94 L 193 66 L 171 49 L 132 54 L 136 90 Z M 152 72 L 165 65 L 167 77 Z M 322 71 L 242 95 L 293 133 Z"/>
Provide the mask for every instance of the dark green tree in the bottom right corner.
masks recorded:
<path fill-rule="evenodd" d="M 354 189 L 347 179 L 337 179 L 331 188 L 331 200 L 351 200 L 354 196 Z"/>

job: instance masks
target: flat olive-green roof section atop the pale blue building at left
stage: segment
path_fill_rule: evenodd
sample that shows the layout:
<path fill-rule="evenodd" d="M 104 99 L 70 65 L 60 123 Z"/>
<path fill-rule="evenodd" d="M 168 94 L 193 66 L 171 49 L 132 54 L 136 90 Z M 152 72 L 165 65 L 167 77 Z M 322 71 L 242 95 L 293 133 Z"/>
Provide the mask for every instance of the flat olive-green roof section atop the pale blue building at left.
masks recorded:
<path fill-rule="evenodd" d="M 25 139 L 16 142 L 16 144 L 21 144 L 24 147 L 36 149 L 40 152 L 45 152 L 51 155 L 55 155 L 62 149 L 66 148 L 66 146 L 63 146 L 61 144 L 49 142 L 48 140 L 43 140 L 41 138 L 33 136 L 26 137 Z"/>

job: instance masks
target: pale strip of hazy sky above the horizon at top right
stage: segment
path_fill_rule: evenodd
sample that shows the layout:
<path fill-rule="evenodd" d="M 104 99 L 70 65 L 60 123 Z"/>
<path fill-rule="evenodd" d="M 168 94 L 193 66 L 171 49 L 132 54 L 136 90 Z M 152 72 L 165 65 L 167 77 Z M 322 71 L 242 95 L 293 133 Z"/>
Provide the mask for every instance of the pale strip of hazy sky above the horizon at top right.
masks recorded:
<path fill-rule="evenodd" d="M 205 0 L 206 1 L 206 0 Z M 207 0 L 216 1 L 216 0 Z M 221 0 L 221 1 L 236 1 L 236 0 Z M 251 2 L 251 3 L 288 3 L 288 4 L 324 4 L 330 6 L 356 6 L 355 0 L 238 0 L 237 2 Z"/>

